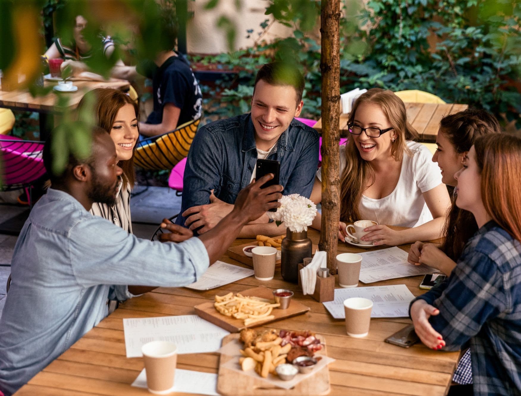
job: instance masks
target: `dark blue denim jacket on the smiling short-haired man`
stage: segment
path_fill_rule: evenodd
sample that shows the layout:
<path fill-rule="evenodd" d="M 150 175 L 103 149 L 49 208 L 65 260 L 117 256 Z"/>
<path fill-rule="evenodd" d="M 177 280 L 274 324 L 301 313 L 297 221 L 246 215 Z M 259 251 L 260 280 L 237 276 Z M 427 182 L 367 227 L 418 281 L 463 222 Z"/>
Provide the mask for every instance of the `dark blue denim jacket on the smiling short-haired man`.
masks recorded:
<path fill-rule="evenodd" d="M 220 200 L 235 202 L 239 191 L 250 184 L 257 162 L 254 132 L 250 113 L 200 128 L 188 153 L 176 224 L 184 225 L 185 210 L 209 203 L 212 189 Z M 317 131 L 293 119 L 267 159 L 280 161 L 283 194 L 309 198 L 318 166 Z"/>

